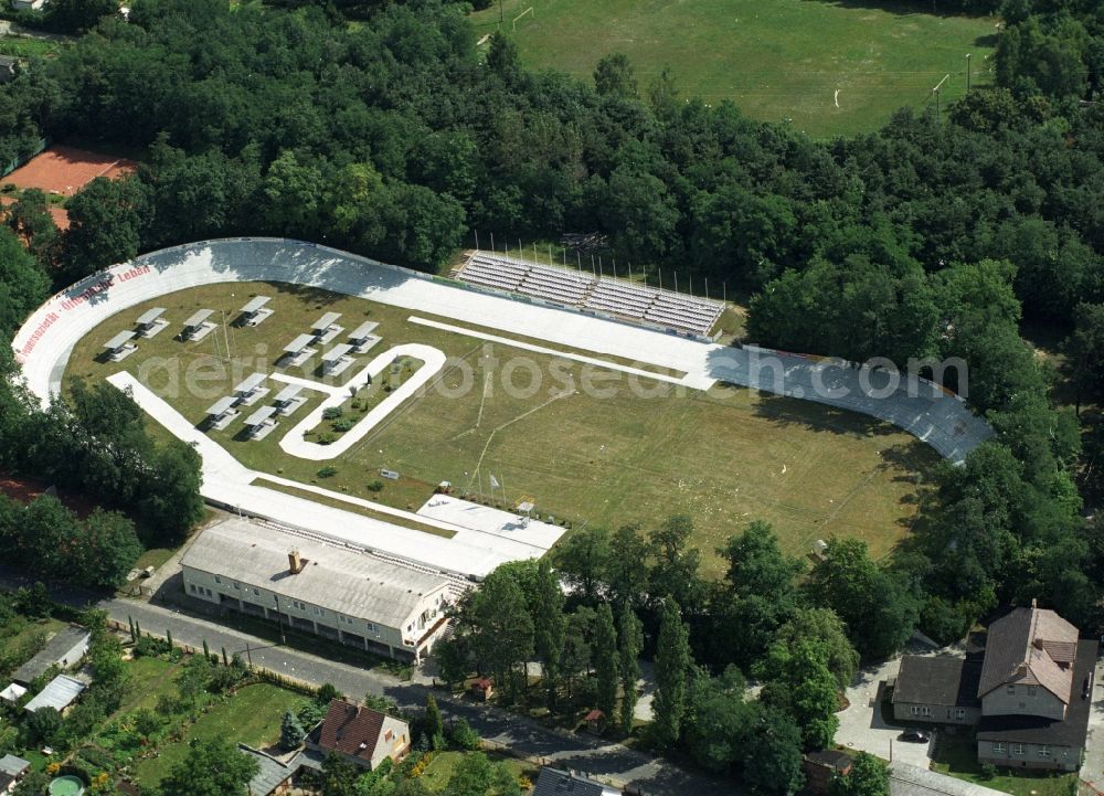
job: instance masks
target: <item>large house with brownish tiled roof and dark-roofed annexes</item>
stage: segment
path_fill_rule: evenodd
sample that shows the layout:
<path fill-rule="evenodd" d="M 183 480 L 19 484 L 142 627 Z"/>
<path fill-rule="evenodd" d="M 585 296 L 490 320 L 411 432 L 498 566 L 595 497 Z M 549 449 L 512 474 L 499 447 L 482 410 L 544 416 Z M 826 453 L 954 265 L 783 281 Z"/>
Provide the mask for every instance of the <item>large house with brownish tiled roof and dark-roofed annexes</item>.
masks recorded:
<path fill-rule="evenodd" d="M 1076 771 L 1097 648 L 1032 601 L 989 626 L 979 670 L 969 657 L 905 656 L 893 687 L 894 717 L 975 726 L 981 763 Z"/>

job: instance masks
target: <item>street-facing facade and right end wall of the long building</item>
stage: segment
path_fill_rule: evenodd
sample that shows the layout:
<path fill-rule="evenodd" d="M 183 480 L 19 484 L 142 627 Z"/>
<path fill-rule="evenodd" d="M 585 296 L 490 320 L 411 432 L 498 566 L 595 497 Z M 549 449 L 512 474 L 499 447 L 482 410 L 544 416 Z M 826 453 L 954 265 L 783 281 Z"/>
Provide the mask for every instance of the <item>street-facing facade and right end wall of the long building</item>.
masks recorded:
<path fill-rule="evenodd" d="M 212 575 L 190 566 L 183 567 L 183 581 L 184 592 L 190 597 L 277 622 L 277 593 L 270 590 Z M 439 618 L 445 590 L 440 588 L 424 596 L 415 612 L 404 619 L 403 628 L 383 625 L 373 617 L 337 614 L 329 608 L 293 599 L 285 594 L 278 596 L 282 615 L 279 620 L 289 627 L 351 643 L 351 646 L 362 647 L 372 652 L 408 660 L 415 657 L 416 651 L 418 655 L 424 655 L 433 646 L 434 639 L 427 638 L 418 650 L 415 650 L 405 645 L 403 639 L 404 637 L 421 639 L 425 630 Z M 406 627 L 414 629 L 405 632 Z M 350 638 L 346 638 L 347 635 Z"/>

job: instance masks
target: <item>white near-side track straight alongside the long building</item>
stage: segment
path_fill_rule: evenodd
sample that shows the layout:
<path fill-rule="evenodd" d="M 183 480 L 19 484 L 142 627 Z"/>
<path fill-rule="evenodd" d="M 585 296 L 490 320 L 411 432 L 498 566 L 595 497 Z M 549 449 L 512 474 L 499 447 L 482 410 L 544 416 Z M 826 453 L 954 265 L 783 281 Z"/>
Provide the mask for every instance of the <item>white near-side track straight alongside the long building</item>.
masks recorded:
<path fill-rule="evenodd" d="M 432 517 L 422 517 L 399 509 L 389 510 L 388 507 L 381 507 L 368 500 L 350 499 L 349 496 L 342 496 L 340 492 L 331 492 L 318 489 L 312 485 L 256 473 L 231 456 L 219 443 L 195 428 L 182 414 L 129 373 L 114 373 L 107 376 L 107 381 L 119 390 L 129 391 L 134 400 L 150 417 L 164 426 L 177 438 L 195 447 L 203 458 L 203 496 L 231 510 L 241 509 L 254 517 L 302 528 L 327 537 L 336 543 L 379 551 L 459 575 L 481 577 L 507 561 L 540 558 L 548 551 L 546 546 L 537 543 L 543 540 L 532 535 L 512 538 L 493 530 L 480 530 L 478 527 L 440 523 L 446 530 L 452 530 L 456 534 L 452 539 L 446 539 L 256 486 L 253 484 L 255 479 L 265 478 L 273 482 L 344 499 L 348 502 L 371 508 L 373 511 L 382 510 L 384 513 L 404 519 L 426 524 L 438 524 L 438 520 Z M 560 529 L 555 530 L 562 532 Z M 549 537 L 546 541 L 551 546 L 555 539 Z"/>

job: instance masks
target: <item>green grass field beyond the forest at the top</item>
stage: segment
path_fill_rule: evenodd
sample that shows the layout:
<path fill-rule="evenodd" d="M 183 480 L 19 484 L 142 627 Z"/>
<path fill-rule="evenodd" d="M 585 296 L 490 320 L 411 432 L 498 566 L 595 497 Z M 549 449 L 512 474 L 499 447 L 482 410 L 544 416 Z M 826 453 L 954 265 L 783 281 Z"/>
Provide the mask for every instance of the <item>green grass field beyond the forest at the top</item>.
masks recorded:
<path fill-rule="evenodd" d="M 527 66 L 590 77 L 613 52 L 629 56 L 641 92 L 670 67 L 679 93 L 732 99 L 749 116 L 792 119 L 814 137 L 877 129 L 901 106 L 921 108 L 951 74 L 942 105 L 988 82 L 996 19 L 936 17 L 928 3 L 857 0 L 503 0 L 503 30 Z M 532 8 L 531 13 L 524 13 Z M 516 23 L 514 18 L 524 13 Z M 498 29 L 499 3 L 474 15 Z M 839 89 L 839 107 L 836 91 Z"/>

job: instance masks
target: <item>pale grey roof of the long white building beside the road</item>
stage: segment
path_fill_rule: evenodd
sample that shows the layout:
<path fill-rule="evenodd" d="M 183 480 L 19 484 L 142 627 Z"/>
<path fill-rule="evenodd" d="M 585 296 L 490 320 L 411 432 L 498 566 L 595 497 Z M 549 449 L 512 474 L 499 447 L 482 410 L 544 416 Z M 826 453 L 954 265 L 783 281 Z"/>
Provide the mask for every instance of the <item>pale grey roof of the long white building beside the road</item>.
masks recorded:
<path fill-rule="evenodd" d="M 305 560 L 304 570 L 297 575 L 288 570 L 290 550 L 298 550 Z M 447 583 L 439 575 L 238 519 L 200 533 L 181 563 L 399 629 L 412 620 L 423 595 L 443 590 Z"/>

